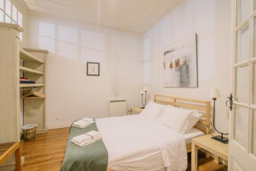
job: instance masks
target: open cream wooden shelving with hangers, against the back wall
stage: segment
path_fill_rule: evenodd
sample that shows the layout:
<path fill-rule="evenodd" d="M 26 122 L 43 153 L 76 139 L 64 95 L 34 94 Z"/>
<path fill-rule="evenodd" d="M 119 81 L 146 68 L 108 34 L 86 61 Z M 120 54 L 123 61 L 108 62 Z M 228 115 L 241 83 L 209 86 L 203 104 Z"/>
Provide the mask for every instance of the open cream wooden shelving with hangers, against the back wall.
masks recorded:
<path fill-rule="evenodd" d="M 29 88 L 38 88 L 38 93 L 44 95 L 45 89 L 45 61 L 48 51 L 39 49 L 19 49 L 20 77 L 26 77 L 35 81 L 36 83 L 20 83 L 20 93 L 27 95 L 30 93 Z M 29 89 L 29 90 L 28 90 Z M 22 98 L 23 100 L 23 119 L 24 124 L 36 123 L 36 134 L 46 133 L 48 128 L 46 126 L 46 99 L 37 97 Z"/>

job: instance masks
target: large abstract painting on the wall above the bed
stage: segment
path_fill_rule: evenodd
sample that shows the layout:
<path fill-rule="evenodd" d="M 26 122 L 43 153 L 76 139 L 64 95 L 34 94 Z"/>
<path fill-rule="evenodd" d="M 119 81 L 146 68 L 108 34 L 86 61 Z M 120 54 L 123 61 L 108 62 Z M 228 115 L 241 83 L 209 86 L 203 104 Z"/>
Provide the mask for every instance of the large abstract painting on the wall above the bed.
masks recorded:
<path fill-rule="evenodd" d="M 163 87 L 198 87 L 196 33 L 164 51 Z"/>

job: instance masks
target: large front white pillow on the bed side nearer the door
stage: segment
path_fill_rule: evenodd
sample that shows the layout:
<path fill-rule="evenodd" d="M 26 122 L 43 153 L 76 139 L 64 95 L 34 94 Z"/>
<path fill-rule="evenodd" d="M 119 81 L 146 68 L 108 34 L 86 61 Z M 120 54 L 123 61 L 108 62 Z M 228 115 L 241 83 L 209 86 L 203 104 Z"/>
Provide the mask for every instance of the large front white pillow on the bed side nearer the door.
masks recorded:
<path fill-rule="evenodd" d="M 177 133 L 185 134 L 189 126 L 188 120 L 194 110 L 184 110 L 167 105 L 158 121 Z"/>

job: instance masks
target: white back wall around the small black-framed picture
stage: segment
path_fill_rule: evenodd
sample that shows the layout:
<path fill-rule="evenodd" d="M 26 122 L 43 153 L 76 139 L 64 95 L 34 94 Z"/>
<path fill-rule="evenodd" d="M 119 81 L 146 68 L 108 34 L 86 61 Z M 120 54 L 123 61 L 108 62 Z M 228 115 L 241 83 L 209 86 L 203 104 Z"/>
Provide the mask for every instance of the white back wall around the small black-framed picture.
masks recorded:
<path fill-rule="evenodd" d="M 140 105 L 141 35 L 36 14 L 29 16 L 28 25 L 28 47 L 50 51 L 46 63 L 49 128 L 69 126 L 82 117 L 107 117 L 112 99 Z M 99 77 L 87 76 L 87 61 L 100 62 Z"/>

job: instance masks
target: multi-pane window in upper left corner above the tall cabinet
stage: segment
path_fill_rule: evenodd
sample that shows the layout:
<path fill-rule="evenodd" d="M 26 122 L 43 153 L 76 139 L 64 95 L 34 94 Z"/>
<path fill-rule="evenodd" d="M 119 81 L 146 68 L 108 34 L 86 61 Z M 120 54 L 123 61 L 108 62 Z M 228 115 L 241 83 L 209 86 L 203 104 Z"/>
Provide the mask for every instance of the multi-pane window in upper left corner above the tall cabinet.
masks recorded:
<path fill-rule="evenodd" d="M 18 24 L 22 27 L 23 15 L 10 0 L 0 0 L 0 22 Z M 19 34 L 22 40 L 22 33 Z"/>

